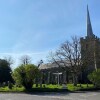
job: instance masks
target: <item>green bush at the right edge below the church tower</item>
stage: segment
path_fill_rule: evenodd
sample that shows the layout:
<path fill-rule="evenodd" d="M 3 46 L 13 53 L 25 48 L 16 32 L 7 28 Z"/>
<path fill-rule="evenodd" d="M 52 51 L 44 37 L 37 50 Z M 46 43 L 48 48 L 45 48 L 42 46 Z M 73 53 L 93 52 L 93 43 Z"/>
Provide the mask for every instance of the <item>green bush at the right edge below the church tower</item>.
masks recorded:
<path fill-rule="evenodd" d="M 90 73 L 88 78 L 95 85 L 95 87 L 100 87 L 100 69 Z"/>

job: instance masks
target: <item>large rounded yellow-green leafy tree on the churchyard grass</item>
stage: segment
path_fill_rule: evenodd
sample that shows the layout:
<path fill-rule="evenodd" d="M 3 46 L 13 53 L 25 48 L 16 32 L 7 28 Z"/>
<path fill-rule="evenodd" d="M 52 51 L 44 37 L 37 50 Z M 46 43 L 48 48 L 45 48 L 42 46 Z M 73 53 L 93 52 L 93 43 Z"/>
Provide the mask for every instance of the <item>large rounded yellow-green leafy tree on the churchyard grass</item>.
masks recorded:
<path fill-rule="evenodd" d="M 24 86 L 26 89 L 31 89 L 34 80 L 39 77 L 40 71 L 33 64 L 21 65 L 16 68 L 12 74 L 16 84 Z"/>

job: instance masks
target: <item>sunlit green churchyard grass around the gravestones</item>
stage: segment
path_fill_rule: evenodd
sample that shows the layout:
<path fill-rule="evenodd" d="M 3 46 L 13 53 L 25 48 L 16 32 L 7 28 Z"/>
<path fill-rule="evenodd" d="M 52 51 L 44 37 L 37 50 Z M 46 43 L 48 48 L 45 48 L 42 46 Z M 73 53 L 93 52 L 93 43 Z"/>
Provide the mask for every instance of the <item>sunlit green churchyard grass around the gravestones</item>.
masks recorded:
<path fill-rule="evenodd" d="M 74 86 L 73 84 L 67 84 L 66 85 L 66 91 L 78 91 L 78 90 L 89 90 L 89 89 L 94 89 L 93 84 L 78 84 L 77 86 Z M 31 92 L 59 92 L 62 91 L 62 85 L 52 85 L 52 84 L 42 84 L 42 88 L 40 88 L 40 85 L 38 87 L 36 87 L 36 85 L 33 85 L 33 88 L 31 90 Z M 7 86 L 6 87 L 0 87 L 0 92 L 25 92 L 24 87 L 15 87 L 13 86 L 12 89 L 9 89 Z"/>

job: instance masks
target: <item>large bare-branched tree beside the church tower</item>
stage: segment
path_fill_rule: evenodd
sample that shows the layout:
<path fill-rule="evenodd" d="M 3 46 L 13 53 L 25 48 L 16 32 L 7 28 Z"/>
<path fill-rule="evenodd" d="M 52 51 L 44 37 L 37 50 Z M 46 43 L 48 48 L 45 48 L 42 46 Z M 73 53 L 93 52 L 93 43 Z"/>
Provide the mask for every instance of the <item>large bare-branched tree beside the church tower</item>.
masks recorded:
<path fill-rule="evenodd" d="M 66 68 L 73 76 L 73 83 L 77 85 L 77 79 L 82 72 L 81 45 L 75 36 L 72 41 L 66 41 L 60 48 L 49 55 L 49 61 L 56 63 L 59 67 Z"/>

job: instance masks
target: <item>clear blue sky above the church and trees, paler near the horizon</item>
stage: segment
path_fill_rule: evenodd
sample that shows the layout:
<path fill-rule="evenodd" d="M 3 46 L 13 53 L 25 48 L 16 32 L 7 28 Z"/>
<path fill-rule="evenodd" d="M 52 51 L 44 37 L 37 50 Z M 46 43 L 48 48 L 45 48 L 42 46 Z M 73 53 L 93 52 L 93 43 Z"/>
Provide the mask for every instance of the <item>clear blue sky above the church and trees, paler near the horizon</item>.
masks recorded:
<path fill-rule="evenodd" d="M 37 64 L 71 36 L 86 35 L 86 6 L 100 37 L 100 0 L 0 0 L 0 57 L 22 55 Z"/>

